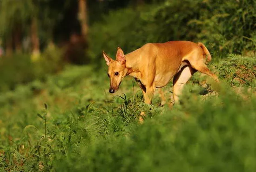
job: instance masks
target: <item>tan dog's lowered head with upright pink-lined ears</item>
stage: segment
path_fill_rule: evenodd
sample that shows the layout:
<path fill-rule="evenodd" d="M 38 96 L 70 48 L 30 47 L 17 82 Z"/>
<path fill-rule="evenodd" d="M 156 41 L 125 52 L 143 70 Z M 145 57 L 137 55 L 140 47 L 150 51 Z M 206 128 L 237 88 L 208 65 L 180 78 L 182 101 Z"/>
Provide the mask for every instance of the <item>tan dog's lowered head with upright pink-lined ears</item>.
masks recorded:
<path fill-rule="evenodd" d="M 115 60 L 108 57 L 104 51 L 103 57 L 108 65 L 108 77 L 110 78 L 109 93 L 115 93 L 128 72 L 128 69 L 125 67 L 126 59 L 120 47 L 117 48 Z"/>

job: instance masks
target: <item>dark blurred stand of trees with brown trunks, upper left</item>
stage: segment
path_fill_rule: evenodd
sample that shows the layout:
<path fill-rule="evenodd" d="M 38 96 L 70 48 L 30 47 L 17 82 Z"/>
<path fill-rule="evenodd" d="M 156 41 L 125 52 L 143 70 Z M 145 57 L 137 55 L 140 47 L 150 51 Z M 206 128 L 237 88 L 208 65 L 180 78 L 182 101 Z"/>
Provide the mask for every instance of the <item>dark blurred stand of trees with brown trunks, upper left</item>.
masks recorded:
<path fill-rule="evenodd" d="M 135 2 L 142 4 L 143 0 Z M 7 56 L 13 52 L 38 54 L 48 43 L 62 45 L 74 34 L 86 40 L 88 16 L 93 23 L 108 10 L 128 4 L 129 0 L 1 0 L 0 38 Z"/>

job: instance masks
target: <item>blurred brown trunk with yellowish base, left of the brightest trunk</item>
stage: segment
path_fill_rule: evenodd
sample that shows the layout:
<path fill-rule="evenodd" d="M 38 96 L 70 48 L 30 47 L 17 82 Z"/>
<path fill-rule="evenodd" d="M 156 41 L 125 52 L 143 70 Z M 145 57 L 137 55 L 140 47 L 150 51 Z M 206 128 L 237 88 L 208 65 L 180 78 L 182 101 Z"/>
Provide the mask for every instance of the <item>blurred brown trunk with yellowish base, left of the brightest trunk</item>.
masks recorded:
<path fill-rule="evenodd" d="M 40 45 L 38 38 L 38 30 L 37 30 L 37 20 L 35 18 L 32 19 L 31 23 L 31 43 L 32 43 L 32 57 L 34 59 L 38 58 L 40 55 Z"/>

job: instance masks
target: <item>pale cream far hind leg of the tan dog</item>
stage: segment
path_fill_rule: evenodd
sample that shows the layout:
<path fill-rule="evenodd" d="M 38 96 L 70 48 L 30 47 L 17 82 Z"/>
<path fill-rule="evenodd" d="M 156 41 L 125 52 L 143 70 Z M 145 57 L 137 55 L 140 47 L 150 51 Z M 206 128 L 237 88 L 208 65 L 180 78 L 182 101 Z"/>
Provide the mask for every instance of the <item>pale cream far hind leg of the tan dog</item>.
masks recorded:
<path fill-rule="evenodd" d="M 182 93 L 183 86 L 189 81 L 196 72 L 191 66 L 184 66 L 181 71 L 173 78 L 173 98 L 175 103 L 179 102 L 179 95 Z"/>

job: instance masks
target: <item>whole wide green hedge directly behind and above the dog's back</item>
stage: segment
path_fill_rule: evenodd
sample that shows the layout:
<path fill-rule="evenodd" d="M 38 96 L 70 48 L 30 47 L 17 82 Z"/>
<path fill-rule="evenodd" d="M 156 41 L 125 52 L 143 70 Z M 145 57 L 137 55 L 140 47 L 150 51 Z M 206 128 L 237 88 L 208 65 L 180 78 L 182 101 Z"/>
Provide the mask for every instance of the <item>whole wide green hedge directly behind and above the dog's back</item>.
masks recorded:
<path fill-rule="evenodd" d="M 112 11 L 91 26 L 89 55 L 102 50 L 114 55 L 120 46 L 129 53 L 148 42 L 202 41 L 214 57 L 226 53 L 255 53 L 254 0 L 166 0 L 135 10 Z"/>

